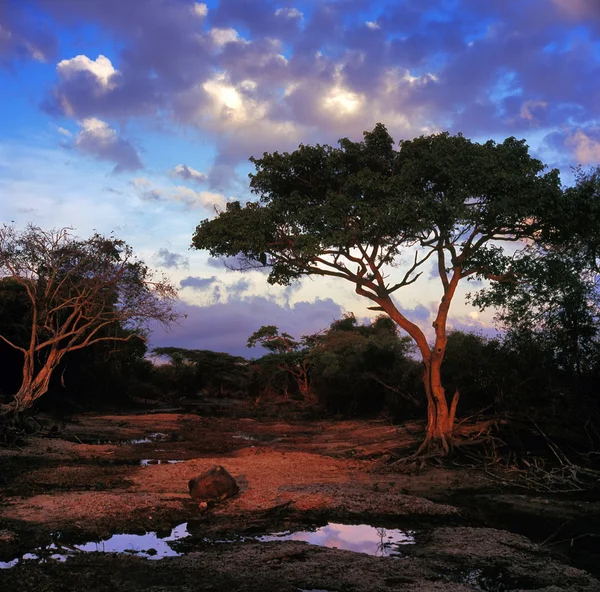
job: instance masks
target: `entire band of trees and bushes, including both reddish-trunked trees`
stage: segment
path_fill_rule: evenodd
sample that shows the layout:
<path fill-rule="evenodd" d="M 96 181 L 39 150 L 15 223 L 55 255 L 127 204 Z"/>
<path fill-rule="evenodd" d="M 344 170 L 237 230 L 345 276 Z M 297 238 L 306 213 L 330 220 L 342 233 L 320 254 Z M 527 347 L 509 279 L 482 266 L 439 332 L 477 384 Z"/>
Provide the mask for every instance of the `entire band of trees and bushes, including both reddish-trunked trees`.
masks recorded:
<path fill-rule="evenodd" d="M 598 170 L 577 169 L 565 187 L 524 141 L 478 144 L 442 133 L 396 148 L 382 124 L 360 142 L 301 145 L 251 161 L 258 199 L 231 202 L 202 221 L 193 246 L 237 257 L 241 269 L 267 267 L 270 283 L 346 280 L 383 316 L 368 325 L 349 316 L 312 336 L 261 327 L 248 345 L 269 353 L 251 364 L 163 348 L 156 353 L 168 364 L 149 366 L 140 347 L 144 323 L 176 318 L 164 278 L 153 279 L 113 237 L 4 227 L 0 336 L 20 376 L 5 377 L 0 414 L 18 415 L 59 376 L 76 374 L 69 360 L 84 360 L 90 348 L 103 350 L 107 364 L 135 359 L 139 380 L 175 392 L 185 381 L 190 392 L 220 382 L 222 393 L 242 385 L 258 399 L 271 392 L 342 414 L 395 401 L 405 414 L 427 418 L 421 452 L 448 453 L 461 415 L 484 402 L 520 412 L 530 405 L 534 413 L 572 405 L 595 412 Z M 398 294 L 431 271 L 441 297 L 429 340 L 401 312 Z M 495 307 L 502 339 L 449 330 L 456 290 L 472 280 L 481 280 L 472 284 L 473 304 Z M 595 428 L 588 422 L 585 429 Z"/>

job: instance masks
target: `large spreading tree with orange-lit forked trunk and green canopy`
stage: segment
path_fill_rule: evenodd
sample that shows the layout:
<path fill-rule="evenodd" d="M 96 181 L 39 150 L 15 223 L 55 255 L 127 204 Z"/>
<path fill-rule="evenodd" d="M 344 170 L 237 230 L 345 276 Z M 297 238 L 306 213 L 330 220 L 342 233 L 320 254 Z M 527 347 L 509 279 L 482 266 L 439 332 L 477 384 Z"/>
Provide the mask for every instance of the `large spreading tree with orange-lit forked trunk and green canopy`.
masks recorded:
<path fill-rule="evenodd" d="M 382 124 L 361 142 L 301 145 L 251 161 L 258 201 L 230 203 L 203 220 L 193 246 L 270 266 L 273 284 L 304 275 L 353 284 L 415 341 L 428 402 L 422 450 L 448 451 L 458 391 L 447 398 L 441 364 L 452 299 L 469 278 L 515 281 L 515 250 L 556 234 L 556 211 L 565 199 L 558 172 L 544 172 L 515 138 L 478 144 L 441 133 L 401 141 L 395 149 Z M 526 260 L 520 258 L 521 273 Z M 431 264 L 441 299 L 430 343 L 394 295 L 429 273 Z"/>

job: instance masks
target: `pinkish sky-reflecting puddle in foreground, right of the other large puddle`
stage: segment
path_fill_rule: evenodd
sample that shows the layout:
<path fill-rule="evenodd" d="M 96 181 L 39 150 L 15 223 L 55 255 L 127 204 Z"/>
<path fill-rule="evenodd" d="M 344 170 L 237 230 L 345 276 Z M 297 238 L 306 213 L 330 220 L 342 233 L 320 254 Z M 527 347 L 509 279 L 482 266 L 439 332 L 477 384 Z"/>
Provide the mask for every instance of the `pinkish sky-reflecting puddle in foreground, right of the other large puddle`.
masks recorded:
<path fill-rule="evenodd" d="M 316 530 L 280 532 L 256 537 L 261 542 L 305 541 L 311 545 L 366 553 L 377 557 L 401 555 L 399 547 L 415 544 L 415 532 L 377 528 L 368 524 L 336 524 L 330 522 Z"/>

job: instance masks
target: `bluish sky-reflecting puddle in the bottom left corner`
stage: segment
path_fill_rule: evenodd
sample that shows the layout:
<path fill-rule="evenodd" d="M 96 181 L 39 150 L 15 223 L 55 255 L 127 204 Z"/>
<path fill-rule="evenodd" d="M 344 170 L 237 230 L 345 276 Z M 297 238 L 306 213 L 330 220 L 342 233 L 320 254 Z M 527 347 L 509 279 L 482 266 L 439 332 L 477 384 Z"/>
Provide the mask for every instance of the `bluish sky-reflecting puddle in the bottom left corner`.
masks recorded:
<path fill-rule="evenodd" d="M 55 541 L 47 547 L 36 549 L 11 561 L 0 561 L 0 569 L 9 569 L 23 560 L 35 560 L 38 563 L 48 561 L 66 561 L 78 553 L 131 553 L 146 559 L 162 559 L 181 555 L 169 545 L 170 542 L 190 536 L 187 522 L 176 526 L 169 536 L 161 538 L 155 532 L 146 534 L 115 534 L 105 541 L 71 545 L 55 536 Z"/>

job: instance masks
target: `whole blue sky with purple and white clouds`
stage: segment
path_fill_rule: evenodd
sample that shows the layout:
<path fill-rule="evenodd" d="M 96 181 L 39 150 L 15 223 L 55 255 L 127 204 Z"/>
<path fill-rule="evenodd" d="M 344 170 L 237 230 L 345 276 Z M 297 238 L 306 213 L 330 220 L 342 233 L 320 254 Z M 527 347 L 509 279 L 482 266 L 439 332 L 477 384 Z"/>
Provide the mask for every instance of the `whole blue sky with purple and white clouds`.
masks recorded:
<path fill-rule="evenodd" d="M 569 184 L 600 162 L 600 0 L 0 0 L 2 222 L 125 239 L 187 314 L 153 346 L 256 355 L 261 325 L 369 315 L 343 280 L 272 287 L 189 247 L 251 198 L 250 156 L 377 122 L 525 138 Z M 489 334 L 470 289 L 450 325 Z M 440 296 L 425 274 L 396 299 L 430 330 Z"/>

